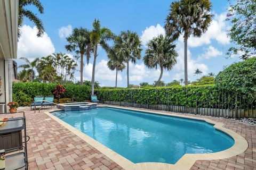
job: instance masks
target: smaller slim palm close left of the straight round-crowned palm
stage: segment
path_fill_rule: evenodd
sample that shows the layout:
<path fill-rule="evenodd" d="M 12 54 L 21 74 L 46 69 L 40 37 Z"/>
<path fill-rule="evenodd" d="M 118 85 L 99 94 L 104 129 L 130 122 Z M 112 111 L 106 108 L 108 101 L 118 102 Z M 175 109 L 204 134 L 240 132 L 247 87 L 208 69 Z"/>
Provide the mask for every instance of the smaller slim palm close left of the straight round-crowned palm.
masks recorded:
<path fill-rule="evenodd" d="M 116 86 L 117 87 L 117 72 L 123 71 L 125 68 L 125 65 L 123 63 L 123 58 L 121 56 L 116 55 L 114 50 L 112 52 L 109 52 L 108 54 L 108 67 L 110 70 L 116 70 Z"/>

